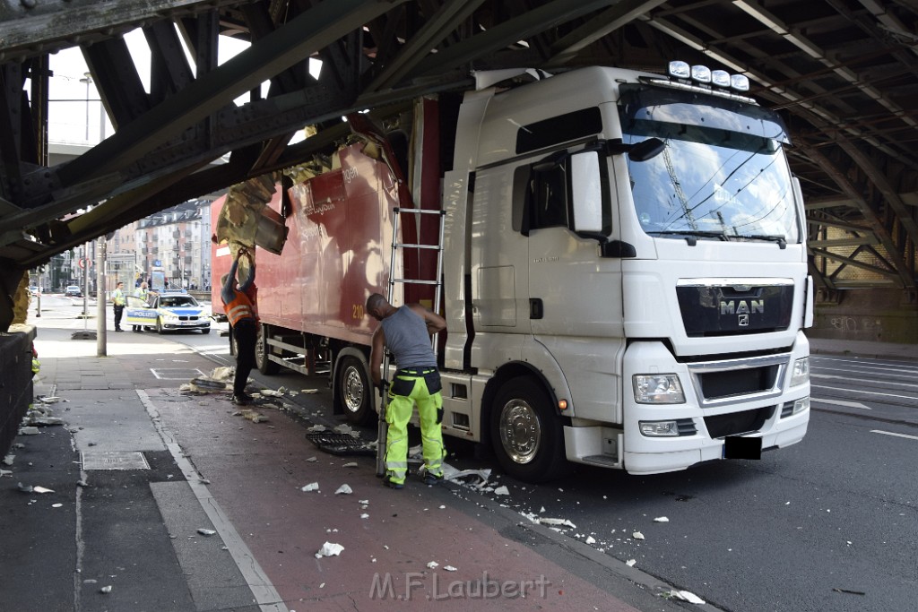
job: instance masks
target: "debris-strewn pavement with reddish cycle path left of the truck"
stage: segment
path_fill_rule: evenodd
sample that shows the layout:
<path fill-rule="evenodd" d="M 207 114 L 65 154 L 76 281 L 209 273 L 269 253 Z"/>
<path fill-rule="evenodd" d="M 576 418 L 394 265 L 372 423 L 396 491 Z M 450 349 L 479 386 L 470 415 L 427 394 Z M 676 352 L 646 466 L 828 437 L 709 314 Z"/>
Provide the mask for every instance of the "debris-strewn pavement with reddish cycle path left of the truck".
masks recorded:
<path fill-rule="evenodd" d="M 215 365 L 196 351 L 109 332 L 95 357 L 94 340 L 71 339 L 82 322 L 37 322 L 36 395 L 61 398 L 66 427 L 20 435 L 4 466 L 4 609 L 684 609 L 666 584 L 468 488 L 415 477 L 393 491 L 373 457 L 319 451 L 304 417 L 338 424 L 322 379 L 255 423 L 225 394 L 179 391 Z M 340 554 L 317 557 L 326 542 Z"/>

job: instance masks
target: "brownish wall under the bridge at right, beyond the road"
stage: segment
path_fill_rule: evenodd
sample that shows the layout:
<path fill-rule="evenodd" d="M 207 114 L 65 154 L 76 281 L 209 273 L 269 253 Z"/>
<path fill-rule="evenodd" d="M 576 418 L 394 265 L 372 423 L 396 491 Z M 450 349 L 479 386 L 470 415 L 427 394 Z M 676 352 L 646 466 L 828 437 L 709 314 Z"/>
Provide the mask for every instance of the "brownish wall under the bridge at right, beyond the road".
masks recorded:
<path fill-rule="evenodd" d="M 817 304 L 813 338 L 918 344 L 918 305 L 897 289 L 839 291 L 838 304 Z"/>

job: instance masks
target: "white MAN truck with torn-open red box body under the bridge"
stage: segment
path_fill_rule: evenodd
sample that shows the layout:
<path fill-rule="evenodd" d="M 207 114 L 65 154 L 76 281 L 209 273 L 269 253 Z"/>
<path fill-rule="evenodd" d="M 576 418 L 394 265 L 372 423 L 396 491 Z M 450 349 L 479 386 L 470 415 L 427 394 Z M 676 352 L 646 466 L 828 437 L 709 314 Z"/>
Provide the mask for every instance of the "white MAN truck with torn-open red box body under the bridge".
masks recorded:
<path fill-rule="evenodd" d="M 445 434 L 530 482 L 569 462 L 662 473 L 800 441 L 813 292 L 786 128 L 742 77 L 669 72 L 426 98 L 407 154 L 339 150 L 271 205 L 289 234 L 258 255 L 262 370 L 321 347 L 337 405 L 373 417 L 363 305 L 390 280 L 392 210 L 442 209 Z M 431 269 L 408 260 L 399 274 Z"/>

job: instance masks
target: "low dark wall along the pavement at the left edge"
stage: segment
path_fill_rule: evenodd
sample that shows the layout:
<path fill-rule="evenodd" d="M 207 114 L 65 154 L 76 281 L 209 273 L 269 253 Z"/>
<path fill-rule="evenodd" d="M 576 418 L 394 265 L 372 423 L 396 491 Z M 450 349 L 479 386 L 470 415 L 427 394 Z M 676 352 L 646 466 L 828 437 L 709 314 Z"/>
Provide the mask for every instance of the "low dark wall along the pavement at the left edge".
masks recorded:
<path fill-rule="evenodd" d="M 14 325 L 0 333 L 0 457 L 16 438 L 32 403 L 32 339 L 35 328 Z"/>

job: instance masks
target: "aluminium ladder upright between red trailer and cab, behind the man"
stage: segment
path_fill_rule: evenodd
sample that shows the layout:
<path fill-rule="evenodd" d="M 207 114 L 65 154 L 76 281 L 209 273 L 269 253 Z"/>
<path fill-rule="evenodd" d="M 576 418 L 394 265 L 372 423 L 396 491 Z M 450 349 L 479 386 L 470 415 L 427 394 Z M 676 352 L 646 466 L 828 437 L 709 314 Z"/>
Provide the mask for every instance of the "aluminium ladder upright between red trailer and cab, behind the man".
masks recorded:
<path fill-rule="evenodd" d="M 404 208 L 397 206 L 392 209 L 392 254 L 389 258 L 389 286 L 388 291 L 386 292 L 386 300 L 389 304 L 392 304 L 393 295 L 395 294 L 396 284 L 432 284 L 434 285 L 433 292 L 433 304 L 431 310 L 434 313 L 440 312 L 440 300 L 442 297 L 442 275 L 443 275 L 443 222 L 446 218 L 446 213 L 442 210 L 428 210 L 424 208 Z M 399 226 L 401 225 L 398 220 L 402 215 L 416 215 L 417 223 L 415 227 L 417 228 L 417 234 L 420 236 L 420 220 L 424 215 L 437 215 L 439 216 L 440 229 L 438 231 L 438 239 L 436 244 L 412 244 L 407 242 L 398 241 L 398 232 Z M 437 251 L 437 269 L 436 277 L 433 280 L 425 279 L 410 279 L 410 278 L 396 278 L 396 261 L 397 256 L 400 251 L 404 249 L 417 249 L 417 250 L 436 250 Z M 402 260 L 404 266 L 404 260 Z M 404 269 L 404 268 L 403 268 Z M 404 294 L 403 294 L 404 299 Z M 437 335 L 434 334 L 431 339 L 434 353 L 436 352 L 436 342 Z M 389 351 L 383 353 L 383 382 L 386 382 L 386 379 L 389 375 L 389 360 L 390 355 Z M 383 385 L 384 389 L 386 385 Z M 380 392 L 381 400 L 379 402 L 379 424 L 376 432 L 376 475 L 382 476 L 386 473 L 386 436 L 388 435 L 388 424 L 386 423 L 386 406 L 388 404 L 388 394 L 386 391 Z"/>

